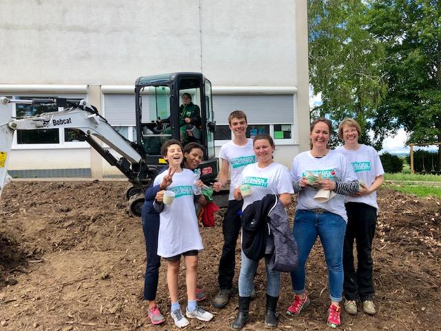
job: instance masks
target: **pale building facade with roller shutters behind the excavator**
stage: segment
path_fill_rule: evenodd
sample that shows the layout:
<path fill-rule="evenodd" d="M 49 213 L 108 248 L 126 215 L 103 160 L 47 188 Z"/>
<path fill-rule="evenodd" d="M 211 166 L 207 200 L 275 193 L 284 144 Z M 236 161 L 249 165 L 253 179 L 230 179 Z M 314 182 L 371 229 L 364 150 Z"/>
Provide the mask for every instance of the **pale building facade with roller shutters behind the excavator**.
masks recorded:
<path fill-rule="evenodd" d="M 227 116 L 246 112 L 249 134 L 267 132 L 275 159 L 307 150 L 307 1 L 3 1 L 0 95 L 88 99 L 134 139 L 134 81 L 203 72 L 212 82 L 216 152 Z M 17 117 L 53 111 L 17 106 Z M 17 132 L 13 177 L 121 175 L 70 130 Z"/>

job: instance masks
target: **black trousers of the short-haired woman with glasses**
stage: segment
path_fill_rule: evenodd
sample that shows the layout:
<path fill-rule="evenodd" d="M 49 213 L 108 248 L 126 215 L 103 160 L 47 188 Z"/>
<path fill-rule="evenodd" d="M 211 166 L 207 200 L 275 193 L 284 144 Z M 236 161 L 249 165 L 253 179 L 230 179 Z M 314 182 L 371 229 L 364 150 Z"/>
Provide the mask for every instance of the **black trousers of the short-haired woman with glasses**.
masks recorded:
<path fill-rule="evenodd" d="M 377 210 L 366 203 L 348 202 L 347 228 L 343 245 L 343 292 L 348 300 L 362 301 L 373 298 L 372 241 L 377 222 Z M 353 265 L 353 241 L 357 246 L 357 270 Z"/>

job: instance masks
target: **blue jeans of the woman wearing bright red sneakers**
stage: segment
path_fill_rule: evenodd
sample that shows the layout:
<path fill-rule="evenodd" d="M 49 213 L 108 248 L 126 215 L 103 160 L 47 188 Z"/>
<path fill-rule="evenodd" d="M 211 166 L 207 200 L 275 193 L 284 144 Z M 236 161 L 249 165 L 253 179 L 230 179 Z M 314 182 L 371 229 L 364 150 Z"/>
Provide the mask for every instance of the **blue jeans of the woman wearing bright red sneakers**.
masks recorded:
<path fill-rule="evenodd" d="M 298 266 L 291 272 L 295 294 L 305 292 L 305 264 L 318 236 L 325 250 L 331 301 L 342 301 L 345 230 L 346 222 L 338 214 L 296 210 L 292 232 L 298 246 Z"/>

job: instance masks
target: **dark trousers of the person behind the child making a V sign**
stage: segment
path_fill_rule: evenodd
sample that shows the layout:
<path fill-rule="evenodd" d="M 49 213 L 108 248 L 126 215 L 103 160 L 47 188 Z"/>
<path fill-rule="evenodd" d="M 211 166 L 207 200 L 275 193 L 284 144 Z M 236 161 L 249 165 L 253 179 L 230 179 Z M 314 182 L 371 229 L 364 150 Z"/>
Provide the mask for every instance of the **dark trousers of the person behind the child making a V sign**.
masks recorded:
<path fill-rule="evenodd" d="M 147 253 L 147 264 L 145 265 L 144 277 L 144 300 L 154 300 L 158 290 L 159 266 L 161 257 L 158 252 L 159 214 L 152 212 L 147 214 L 144 210 L 141 213 L 143 232 L 145 238 L 145 250 Z"/>

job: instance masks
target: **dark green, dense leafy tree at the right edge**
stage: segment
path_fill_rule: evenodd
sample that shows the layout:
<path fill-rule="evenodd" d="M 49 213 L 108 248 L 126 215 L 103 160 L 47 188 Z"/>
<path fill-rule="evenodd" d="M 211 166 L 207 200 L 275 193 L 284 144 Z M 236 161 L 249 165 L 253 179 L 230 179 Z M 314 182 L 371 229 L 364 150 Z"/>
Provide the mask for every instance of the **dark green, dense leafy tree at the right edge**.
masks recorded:
<path fill-rule="evenodd" d="M 385 118 L 409 132 L 407 143 L 441 141 L 441 1 L 371 0 L 369 32 L 387 56 Z M 441 146 L 438 147 L 438 170 Z"/>

